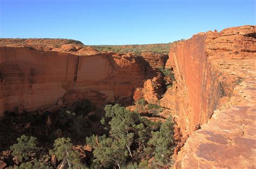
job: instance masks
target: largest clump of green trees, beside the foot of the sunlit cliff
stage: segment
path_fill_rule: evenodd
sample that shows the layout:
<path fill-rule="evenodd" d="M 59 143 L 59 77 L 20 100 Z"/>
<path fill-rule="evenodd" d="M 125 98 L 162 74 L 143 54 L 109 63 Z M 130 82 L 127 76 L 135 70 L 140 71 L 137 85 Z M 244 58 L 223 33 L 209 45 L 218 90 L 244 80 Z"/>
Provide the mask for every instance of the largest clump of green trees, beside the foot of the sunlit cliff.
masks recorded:
<path fill-rule="evenodd" d="M 147 168 L 147 160 L 159 154 L 154 153 L 156 148 L 161 147 L 157 137 L 168 139 L 168 134 L 172 133 L 169 124 L 161 125 L 160 122 L 150 121 L 119 104 L 106 105 L 105 112 L 105 118 L 101 120 L 101 123 L 109 130 L 108 138 L 105 135 L 100 137 L 93 135 L 86 138 L 86 143 L 94 149 L 93 167 L 95 168 L 116 166 L 119 168 L 136 168 L 136 166 Z M 168 127 L 170 131 L 167 131 Z M 164 131 L 167 133 L 163 133 Z M 168 142 L 167 146 L 163 147 L 169 148 L 170 146 L 171 144 L 169 145 Z M 157 151 L 161 153 L 161 150 Z M 166 157 L 168 153 L 166 153 Z"/>

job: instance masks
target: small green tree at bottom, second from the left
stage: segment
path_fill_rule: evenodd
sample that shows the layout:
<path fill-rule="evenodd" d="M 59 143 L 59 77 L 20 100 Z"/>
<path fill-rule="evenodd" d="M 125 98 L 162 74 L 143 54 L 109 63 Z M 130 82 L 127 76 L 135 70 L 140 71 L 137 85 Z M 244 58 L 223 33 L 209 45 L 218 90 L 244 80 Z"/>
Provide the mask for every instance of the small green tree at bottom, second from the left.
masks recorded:
<path fill-rule="evenodd" d="M 58 160 L 66 158 L 69 166 L 79 164 L 78 153 L 72 150 L 73 144 L 70 138 L 58 138 L 54 141 L 53 149 L 50 150 L 50 155 L 55 155 Z"/>

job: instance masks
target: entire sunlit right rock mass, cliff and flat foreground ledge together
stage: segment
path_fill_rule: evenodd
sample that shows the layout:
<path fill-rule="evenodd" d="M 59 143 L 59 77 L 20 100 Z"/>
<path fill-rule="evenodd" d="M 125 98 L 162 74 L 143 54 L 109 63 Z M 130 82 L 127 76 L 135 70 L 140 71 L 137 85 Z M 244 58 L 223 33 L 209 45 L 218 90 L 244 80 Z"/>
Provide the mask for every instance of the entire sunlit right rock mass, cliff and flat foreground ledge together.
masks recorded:
<path fill-rule="evenodd" d="M 166 67 L 177 84 L 160 104 L 190 135 L 175 168 L 256 166 L 255 32 L 241 26 L 199 33 L 171 49 Z"/>

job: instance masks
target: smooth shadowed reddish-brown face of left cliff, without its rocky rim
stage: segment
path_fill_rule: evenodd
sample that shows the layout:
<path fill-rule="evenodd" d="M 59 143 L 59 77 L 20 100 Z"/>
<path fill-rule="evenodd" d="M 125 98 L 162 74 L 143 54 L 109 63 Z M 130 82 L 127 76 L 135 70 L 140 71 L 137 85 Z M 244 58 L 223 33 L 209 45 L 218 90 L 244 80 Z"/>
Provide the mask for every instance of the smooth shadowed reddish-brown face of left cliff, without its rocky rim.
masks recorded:
<path fill-rule="evenodd" d="M 0 116 L 15 107 L 35 110 L 77 99 L 106 103 L 130 99 L 143 86 L 138 57 L 99 53 L 77 56 L 29 48 L 0 48 Z"/>

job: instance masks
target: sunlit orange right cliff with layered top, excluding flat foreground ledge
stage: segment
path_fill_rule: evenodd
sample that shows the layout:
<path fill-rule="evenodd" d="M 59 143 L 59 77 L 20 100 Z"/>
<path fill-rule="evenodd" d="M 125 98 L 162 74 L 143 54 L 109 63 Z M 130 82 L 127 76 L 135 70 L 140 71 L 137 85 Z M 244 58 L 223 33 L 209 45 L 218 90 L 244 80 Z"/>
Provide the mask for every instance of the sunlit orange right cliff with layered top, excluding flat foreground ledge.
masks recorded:
<path fill-rule="evenodd" d="M 184 134 L 207 123 L 244 78 L 227 72 L 230 65 L 225 60 L 255 57 L 253 32 L 254 26 L 241 26 L 198 33 L 171 49 L 166 67 L 175 72 L 177 84 L 167 90 L 160 105 L 177 114 Z"/>

